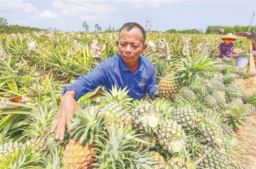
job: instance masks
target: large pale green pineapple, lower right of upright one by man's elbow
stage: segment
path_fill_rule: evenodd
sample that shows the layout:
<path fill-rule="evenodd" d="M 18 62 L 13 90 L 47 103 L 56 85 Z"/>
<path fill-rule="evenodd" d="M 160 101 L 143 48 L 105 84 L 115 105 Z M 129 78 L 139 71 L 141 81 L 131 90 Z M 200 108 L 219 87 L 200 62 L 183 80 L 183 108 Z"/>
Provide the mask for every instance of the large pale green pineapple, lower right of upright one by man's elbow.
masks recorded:
<path fill-rule="evenodd" d="M 189 108 L 176 108 L 173 111 L 173 116 L 182 125 L 186 131 L 195 131 L 198 120 L 198 113 Z"/>

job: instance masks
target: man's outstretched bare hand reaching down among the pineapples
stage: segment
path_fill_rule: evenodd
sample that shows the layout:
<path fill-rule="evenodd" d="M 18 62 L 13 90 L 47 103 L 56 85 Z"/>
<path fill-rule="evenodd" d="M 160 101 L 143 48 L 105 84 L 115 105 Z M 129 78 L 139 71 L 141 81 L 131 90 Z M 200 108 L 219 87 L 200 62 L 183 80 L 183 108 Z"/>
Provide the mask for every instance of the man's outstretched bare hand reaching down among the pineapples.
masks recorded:
<path fill-rule="evenodd" d="M 70 118 L 74 117 L 74 112 L 77 109 L 81 109 L 77 102 L 74 100 L 75 94 L 75 91 L 70 90 L 62 96 L 58 117 L 50 130 L 51 132 L 56 130 L 56 139 L 61 141 L 64 139 L 66 126 L 72 124 Z M 72 133 L 72 130 L 70 130 L 69 133 Z"/>

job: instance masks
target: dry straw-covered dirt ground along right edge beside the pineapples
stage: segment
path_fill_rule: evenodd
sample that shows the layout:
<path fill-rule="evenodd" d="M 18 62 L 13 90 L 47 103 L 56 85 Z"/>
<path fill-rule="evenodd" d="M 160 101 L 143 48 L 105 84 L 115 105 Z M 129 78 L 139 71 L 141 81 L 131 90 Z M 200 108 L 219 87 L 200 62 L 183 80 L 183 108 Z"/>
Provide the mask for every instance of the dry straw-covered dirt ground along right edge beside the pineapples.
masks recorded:
<path fill-rule="evenodd" d="M 256 77 L 249 79 L 236 79 L 244 89 L 244 93 L 256 93 Z M 237 161 L 246 169 L 256 169 L 256 113 L 247 118 L 239 130 L 235 131 L 241 149 L 238 150 Z"/>

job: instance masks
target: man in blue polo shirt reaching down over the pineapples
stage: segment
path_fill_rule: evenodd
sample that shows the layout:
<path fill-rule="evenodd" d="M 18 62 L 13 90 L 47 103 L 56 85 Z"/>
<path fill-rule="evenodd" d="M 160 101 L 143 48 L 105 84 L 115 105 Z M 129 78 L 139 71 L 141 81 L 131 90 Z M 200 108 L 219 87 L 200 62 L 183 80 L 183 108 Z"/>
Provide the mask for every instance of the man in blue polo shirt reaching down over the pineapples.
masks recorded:
<path fill-rule="evenodd" d="M 141 56 L 147 47 L 145 39 L 146 31 L 141 25 L 133 22 L 124 24 L 116 42 L 119 55 L 103 61 L 91 73 L 79 77 L 63 89 L 60 112 L 51 128 L 51 132 L 56 130 L 56 139 L 63 140 L 66 125 L 72 123 L 69 119 L 74 116 L 76 109 L 80 109 L 76 101 L 99 86 L 105 86 L 108 91 L 115 84 L 118 89 L 127 86 L 128 94 L 135 99 L 141 99 L 146 93 L 155 95 L 154 65 Z"/>

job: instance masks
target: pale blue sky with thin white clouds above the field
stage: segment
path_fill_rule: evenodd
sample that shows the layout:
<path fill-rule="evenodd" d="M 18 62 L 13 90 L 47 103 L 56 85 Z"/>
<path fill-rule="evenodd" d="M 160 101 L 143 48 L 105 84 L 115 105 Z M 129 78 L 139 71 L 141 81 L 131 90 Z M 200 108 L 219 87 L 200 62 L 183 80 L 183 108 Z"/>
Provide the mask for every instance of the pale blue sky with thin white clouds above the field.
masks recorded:
<path fill-rule="evenodd" d="M 0 0 L 0 18 L 10 25 L 61 31 L 89 31 L 99 24 L 102 30 L 119 29 L 137 22 L 151 30 L 203 29 L 208 25 L 249 25 L 256 0 Z M 256 25 L 256 15 L 252 21 Z"/>

